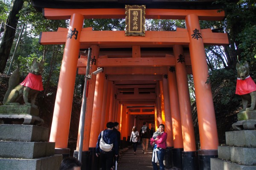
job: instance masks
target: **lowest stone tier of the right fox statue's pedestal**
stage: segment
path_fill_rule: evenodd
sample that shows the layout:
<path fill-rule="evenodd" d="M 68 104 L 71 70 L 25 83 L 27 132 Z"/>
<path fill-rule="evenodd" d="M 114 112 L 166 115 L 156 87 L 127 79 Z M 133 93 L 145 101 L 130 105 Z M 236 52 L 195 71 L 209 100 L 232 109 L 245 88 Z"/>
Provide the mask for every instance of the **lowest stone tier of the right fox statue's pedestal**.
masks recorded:
<path fill-rule="evenodd" d="M 256 165 L 243 165 L 219 158 L 211 158 L 211 170 L 256 170 Z"/>

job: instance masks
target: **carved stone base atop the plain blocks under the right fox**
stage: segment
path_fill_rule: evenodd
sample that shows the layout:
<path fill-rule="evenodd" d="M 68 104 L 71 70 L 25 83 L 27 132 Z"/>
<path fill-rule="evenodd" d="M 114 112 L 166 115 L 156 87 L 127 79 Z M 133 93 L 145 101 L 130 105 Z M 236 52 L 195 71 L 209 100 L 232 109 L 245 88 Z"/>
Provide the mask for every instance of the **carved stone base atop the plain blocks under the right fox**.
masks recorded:
<path fill-rule="evenodd" d="M 256 120 L 244 120 L 244 121 L 237 121 L 236 123 L 232 124 L 234 130 L 256 130 Z"/>

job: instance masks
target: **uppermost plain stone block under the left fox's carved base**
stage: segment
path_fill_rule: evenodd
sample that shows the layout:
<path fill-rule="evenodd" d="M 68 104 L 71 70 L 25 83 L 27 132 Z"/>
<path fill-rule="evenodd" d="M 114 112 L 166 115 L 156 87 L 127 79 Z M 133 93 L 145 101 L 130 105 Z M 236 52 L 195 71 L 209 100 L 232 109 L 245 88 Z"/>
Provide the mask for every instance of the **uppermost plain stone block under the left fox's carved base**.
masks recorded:
<path fill-rule="evenodd" d="M 47 141 L 49 129 L 35 125 L 0 124 L 2 141 Z"/>

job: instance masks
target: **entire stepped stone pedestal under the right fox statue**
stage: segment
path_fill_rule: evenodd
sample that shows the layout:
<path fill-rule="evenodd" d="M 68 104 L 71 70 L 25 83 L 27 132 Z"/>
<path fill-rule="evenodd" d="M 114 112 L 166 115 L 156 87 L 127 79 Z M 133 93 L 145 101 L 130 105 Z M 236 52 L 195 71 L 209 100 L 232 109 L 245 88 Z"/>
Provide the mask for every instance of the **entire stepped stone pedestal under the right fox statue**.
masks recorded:
<path fill-rule="evenodd" d="M 226 132 L 226 145 L 211 158 L 211 170 L 256 170 L 256 110 L 237 114 L 234 130 Z"/>

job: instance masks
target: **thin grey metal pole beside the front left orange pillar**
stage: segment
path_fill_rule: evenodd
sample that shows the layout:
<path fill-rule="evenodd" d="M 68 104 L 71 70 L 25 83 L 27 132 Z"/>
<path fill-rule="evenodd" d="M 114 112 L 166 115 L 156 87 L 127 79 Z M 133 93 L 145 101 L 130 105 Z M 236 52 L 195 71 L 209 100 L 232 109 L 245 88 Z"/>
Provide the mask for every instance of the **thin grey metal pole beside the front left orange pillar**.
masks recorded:
<path fill-rule="evenodd" d="M 86 89 L 87 89 L 87 81 L 88 81 L 88 75 L 90 72 L 90 60 L 91 60 L 91 53 L 92 49 L 89 48 L 88 50 L 88 58 L 87 58 L 87 66 L 86 66 L 86 73 L 84 78 L 84 91 L 83 91 L 83 100 L 82 100 L 82 106 L 81 106 L 81 113 L 80 113 L 80 138 L 79 138 L 79 153 L 78 153 L 78 160 L 82 162 L 82 149 L 83 149 L 83 140 L 84 140 L 84 118 L 85 118 L 85 111 L 86 111 Z"/>

